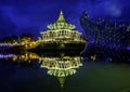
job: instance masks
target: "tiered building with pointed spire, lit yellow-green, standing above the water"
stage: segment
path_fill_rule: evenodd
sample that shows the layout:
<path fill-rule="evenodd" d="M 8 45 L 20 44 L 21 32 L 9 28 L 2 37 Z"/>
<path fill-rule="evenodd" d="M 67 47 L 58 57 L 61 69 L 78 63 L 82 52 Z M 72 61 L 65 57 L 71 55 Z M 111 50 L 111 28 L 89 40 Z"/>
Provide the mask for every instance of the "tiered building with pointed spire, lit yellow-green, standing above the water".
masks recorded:
<path fill-rule="evenodd" d="M 48 25 L 49 30 L 41 31 L 41 42 L 75 43 L 82 42 L 81 32 L 75 30 L 76 26 L 65 21 L 61 11 L 57 21 Z"/>

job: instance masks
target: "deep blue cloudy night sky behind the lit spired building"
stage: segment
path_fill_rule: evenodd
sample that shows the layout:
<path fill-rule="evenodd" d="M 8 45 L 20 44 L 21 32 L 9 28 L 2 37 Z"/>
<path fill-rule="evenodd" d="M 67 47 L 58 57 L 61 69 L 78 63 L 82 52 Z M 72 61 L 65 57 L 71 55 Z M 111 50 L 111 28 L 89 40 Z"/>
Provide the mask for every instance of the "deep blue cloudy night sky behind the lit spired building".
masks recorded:
<path fill-rule="evenodd" d="M 23 32 L 37 37 L 56 21 L 61 10 L 79 31 L 83 31 L 79 26 L 83 10 L 92 18 L 130 22 L 129 0 L 0 0 L 0 38 Z"/>

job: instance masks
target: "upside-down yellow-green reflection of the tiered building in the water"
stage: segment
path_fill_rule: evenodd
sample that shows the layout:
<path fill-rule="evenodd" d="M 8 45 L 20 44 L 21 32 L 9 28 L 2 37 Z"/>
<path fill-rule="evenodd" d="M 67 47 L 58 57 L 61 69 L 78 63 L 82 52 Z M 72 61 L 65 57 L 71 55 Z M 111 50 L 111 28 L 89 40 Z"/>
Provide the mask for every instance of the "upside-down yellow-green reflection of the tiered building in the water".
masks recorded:
<path fill-rule="evenodd" d="M 76 68 L 82 66 L 80 56 L 42 57 L 40 67 L 48 69 L 48 75 L 57 77 L 61 87 L 64 87 L 65 78 L 76 74 Z"/>

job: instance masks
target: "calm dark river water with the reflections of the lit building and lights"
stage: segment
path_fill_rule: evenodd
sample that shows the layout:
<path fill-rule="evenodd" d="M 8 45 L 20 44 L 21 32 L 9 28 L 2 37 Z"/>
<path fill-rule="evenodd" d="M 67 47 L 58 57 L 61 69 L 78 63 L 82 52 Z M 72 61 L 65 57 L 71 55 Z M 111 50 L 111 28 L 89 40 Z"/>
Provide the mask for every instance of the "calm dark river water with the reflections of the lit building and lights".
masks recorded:
<path fill-rule="evenodd" d="M 130 92 L 130 65 L 76 52 L 1 53 L 0 92 Z"/>

